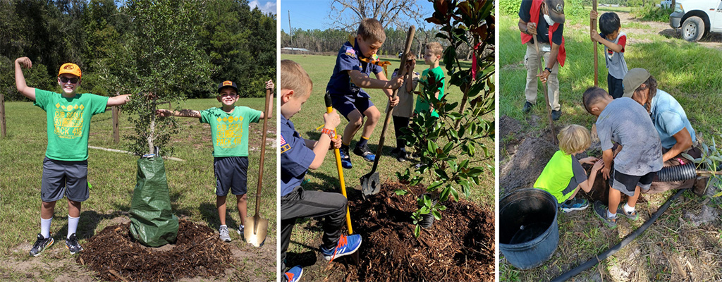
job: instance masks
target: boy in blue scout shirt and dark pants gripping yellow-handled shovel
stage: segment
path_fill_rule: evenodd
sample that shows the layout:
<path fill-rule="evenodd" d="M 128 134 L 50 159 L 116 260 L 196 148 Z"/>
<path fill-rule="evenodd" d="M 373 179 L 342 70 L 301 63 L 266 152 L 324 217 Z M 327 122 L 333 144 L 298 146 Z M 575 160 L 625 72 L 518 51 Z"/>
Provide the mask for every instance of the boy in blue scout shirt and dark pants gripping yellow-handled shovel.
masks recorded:
<path fill-rule="evenodd" d="M 334 135 L 341 120 L 334 110 L 324 113 L 324 128 L 318 141 L 305 140 L 289 120 L 301 110 L 310 97 L 313 81 L 298 63 L 281 61 L 281 270 L 286 269 L 286 250 L 296 219 L 323 216 L 321 252 L 326 260 L 350 255 L 361 245 L 358 234 L 348 237 L 341 232 L 346 217 L 347 200 L 341 193 L 303 190 L 301 183 L 308 169 L 318 169 L 329 149 L 341 147 L 341 139 Z M 298 281 L 303 274 L 300 266 L 283 273 L 282 281 Z"/>

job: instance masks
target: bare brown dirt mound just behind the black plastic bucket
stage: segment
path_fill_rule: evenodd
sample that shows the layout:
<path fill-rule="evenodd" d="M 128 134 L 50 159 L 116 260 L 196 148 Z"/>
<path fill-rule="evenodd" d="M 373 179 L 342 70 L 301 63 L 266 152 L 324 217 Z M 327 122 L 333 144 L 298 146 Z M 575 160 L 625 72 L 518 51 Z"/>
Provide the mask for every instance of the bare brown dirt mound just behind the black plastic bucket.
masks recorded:
<path fill-rule="evenodd" d="M 557 150 L 559 147 L 552 144 L 548 138 L 525 138 L 521 145 L 517 146 L 516 154 L 501 171 L 499 180 L 499 187 L 503 189 L 501 194 L 534 185 L 536 177 L 541 175 L 544 166 Z"/>

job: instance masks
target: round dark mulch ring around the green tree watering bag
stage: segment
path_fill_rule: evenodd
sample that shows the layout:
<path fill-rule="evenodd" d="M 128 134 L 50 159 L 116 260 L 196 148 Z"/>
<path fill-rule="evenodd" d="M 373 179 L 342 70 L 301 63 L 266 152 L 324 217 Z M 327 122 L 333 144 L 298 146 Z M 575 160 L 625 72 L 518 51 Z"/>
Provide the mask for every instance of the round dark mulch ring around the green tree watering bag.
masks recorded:
<path fill-rule="evenodd" d="M 77 262 L 110 281 L 176 281 L 211 277 L 231 266 L 231 252 L 213 229 L 181 219 L 175 244 L 154 250 L 131 238 L 130 224 L 105 227 L 88 239 Z"/>

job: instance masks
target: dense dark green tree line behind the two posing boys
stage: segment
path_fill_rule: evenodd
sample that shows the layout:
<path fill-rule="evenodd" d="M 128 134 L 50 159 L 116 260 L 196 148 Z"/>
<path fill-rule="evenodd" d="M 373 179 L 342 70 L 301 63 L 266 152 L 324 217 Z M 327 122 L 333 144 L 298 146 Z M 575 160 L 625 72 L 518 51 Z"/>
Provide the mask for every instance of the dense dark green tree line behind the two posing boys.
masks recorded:
<path fill-rule="evenodd" d="M 62 63 L 77 63 L 82 71 L 82 92 L 114 95 L 131 87 L 121 82 L 147 76 L 157 66 L 138 60 L 139 48 L 172 52 L 183 42 L 198 74 L 177 74 L 170 79 L 184 97 L 209 97 L 219 81 L 233 80 L 242 97 L 263 97 L 264 81 L 276 77 L 276 16 L 251 9 L 248 0 L 157 1 L 181 12 L 192 7 L 191 30 L 175 32 L 163 40 L 144 40 L 139 30 L 155 26 L 154 17 L 139 17 L 148 1 L 129 0 L 0 0 L 0 92 L 6 100 L 24 99 L 15 89 L 14 60 L 30 57 L 24 70 L 28 85 L 58 89 L 55 77 Z M 185 25 L 185 24 L 184 24 Z M 149 46 L 154 45 L 154 46 Z M 136 53 L 136 52 L 135 52 Z M 173 54 L 146 52 L 168 58 Z M 129 58 L 134 59 L 129 62 Z M 152 91 L 152 89 L 147 89 Z"/>

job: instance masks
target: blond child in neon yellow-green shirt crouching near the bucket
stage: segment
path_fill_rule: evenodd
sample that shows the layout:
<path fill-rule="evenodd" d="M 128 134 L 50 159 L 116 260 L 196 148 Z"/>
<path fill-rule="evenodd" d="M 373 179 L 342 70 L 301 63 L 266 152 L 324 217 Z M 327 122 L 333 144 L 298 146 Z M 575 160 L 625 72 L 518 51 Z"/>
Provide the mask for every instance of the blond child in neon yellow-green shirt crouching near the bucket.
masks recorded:
<path fill-rule="evenodd" d="M 586 157 L 577 160 L 576 154 L 581 154 L 589 148 L 591 136 L 582 125 L 568 125 L 557 134 L 559 151 L 549 159 L 539 178 L 534 182 L 534 188 L 545 190 L 552 194 L 562 208 L 562 211 L 581 211 L 589 206 L 588 201 L 575 198 L 579 189 L 589 193 L 591 185 L 596 180 L 596 172 L 604 167 L 604 161 L 595 157 Z M 581 164 L 594 164 L 589 177 Z"/>

